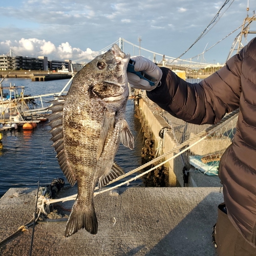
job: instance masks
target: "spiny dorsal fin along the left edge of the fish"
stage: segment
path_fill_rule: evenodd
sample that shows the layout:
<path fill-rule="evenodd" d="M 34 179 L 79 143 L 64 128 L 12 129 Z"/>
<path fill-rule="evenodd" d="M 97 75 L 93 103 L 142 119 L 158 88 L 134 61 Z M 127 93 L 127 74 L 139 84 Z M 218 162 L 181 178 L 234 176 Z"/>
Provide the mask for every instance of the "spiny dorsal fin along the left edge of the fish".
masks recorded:
<path fill-rule="evenodd" d="M 49 125 L 52 127 L 50 131 L 52 134 L 51 140 L 53 141 L 52 146 L 55 148 L 55 151 L 57 152 L 56 157 L 58 158 L 59 166 L 63 174 L 66 176 L 70 185 L 74 186 L 76 183 L 76 180 L 69 169 L 69 166 L 66 161 L 66 156 L 64 153 L 63 119 L 62 119 L 64 102 L 65 102 L 64 96 L 61 96 L 59 99 L 53 100 L 50 102 L 52 103 L 52 105 L 49 109 L 52 111 L 52 114 L 49 115 L 48 119 L 50 120 Z"/>

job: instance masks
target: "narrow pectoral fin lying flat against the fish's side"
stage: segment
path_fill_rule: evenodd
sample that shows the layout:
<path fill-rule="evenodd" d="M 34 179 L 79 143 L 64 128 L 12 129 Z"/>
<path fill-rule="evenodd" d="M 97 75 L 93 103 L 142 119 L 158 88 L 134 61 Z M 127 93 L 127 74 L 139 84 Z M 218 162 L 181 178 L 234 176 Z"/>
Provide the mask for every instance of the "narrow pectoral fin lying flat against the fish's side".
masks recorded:
<path fill-rule="evenodd" d="M 105 145 L 108 134 L 112 134 L 115 126 L 115 112 L 104 111 L 103 122 L 101 126 L 101 133 L 99 138 L 99 148 L 97 160 L 99 160 Z"/>

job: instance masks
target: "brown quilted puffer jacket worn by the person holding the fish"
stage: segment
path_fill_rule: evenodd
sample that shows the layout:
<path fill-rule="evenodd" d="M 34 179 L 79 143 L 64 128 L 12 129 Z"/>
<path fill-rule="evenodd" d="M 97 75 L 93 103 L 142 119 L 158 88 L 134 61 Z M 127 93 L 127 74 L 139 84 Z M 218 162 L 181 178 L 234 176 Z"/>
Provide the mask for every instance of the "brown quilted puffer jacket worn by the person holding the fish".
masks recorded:
<path fill-rule="evenodd" d="M 256 38 L 226 65 L 200 83 L 187 83 L 161 68 L 162 85 L 148 98 L 173 116 L 195 124 L 215 124 L 240 108 L 237 132 L 222 156 L 228 217 L 251 245 L 256 245 Z"/>

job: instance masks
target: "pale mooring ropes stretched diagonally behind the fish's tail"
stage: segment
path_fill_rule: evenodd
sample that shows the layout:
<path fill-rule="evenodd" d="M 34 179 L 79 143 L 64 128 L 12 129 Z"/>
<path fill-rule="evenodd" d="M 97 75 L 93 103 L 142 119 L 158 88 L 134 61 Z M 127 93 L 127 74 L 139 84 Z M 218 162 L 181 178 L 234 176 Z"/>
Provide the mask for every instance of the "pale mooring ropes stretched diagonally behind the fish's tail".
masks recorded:
<path fill-rule="evenodd" d="M 211 125 L 209 126 L 208 128 L 206 128 L 205 130 L 203 130 L 202 132 L 196 134 L 195 136 L 191 137 L 190 139 L 184 141 L 183 143 L 175 146 L 173 148 L 173 150 L 170 150 L 166 153 L 164 153 L 163 155 L 151 160 L 150 162 L 147 162 L 133 170 L 131 170 L 130 172 L 118 177 L 117 179 L 111 181 L 109 184 L 112 184 L 114 182 L 117 182 L 118 180 L 121 180 L 127 176 L 130 176 L 136 172 L 139 172 L 139 170 L 141 169 L 144 169 L 145 167 L 147 166 L 150 166 L 152 164 L 155 164 L 156 162 L 159 162 L 160 160 L 162 160 L 163 158 L 167 157 L 168 155 L 170 154 L 173 154 L 173 153 L 177 153 L 176 155 L 168 158 L 167 160 L 161 162 L 160 164 L 154 166 L 153 168 L 149 169 L 149 170 L 146 170 L 145 172 L 143 172 L 142 174 L 140 175 L 137 175 L 136 177 L 134 178 L 131 178 L 130 180 L 127 180 L 125 182 L 122 182 L 116 186 L 113 186 L 113 187 L 110 187 L 110 188 L 106 188 L 106 189 L 102 189 L 101 191 L 98 191 L 98 192 L 95 192 L 94 193 L 94 196 L 98 195 L 98 194 L 102 194 L 102 193 L 105 193 L 106 191 L 109 191 L 109 190 L 113 190 L 117 187 L 120 187 L 122 185 L 125 185 L 127 183 L 130 183 L 131 181 L 134 181 L 140 177 L 142 177 L 143 175 L 151 172 L 152 170 L 160 167 L 161 165 L 165 164 L 166 162 L 178 157 L 179 155 L 183 154 L 184 152 L 186 152 L 187 150 L 189 150 L 189 148 L 195 146 L 196 144 L 198 144 L 199 142 L 201 142 L 202 140 L 206 139 L 208 136 L 210 136 L 211 134 L 215 133 L 216 131 L 218 131 L 222 126 L 226 125 L 226 123 L 230 122 L 232 119 L 236 118 L 238 116 L 238 112 L 239 112 L 239 109 L 233 111 L 232 113 L 228 114 L 227 116 L 225 116 L 224 118 L 222 118 L 221 121 L 219 121 L 217 124 L 214 124 L 214 125 Z M 202 137 L 203 136 L 203 137 Z M 195 141 L 196 140 L 196 141 Z M 194 142 L 193 144 L 190 144 L 191 142 Z M 190 144 L 190 145 L 189 145 Z M 188 146 L 189 145 L 189 146 Z M 181 151 L 181 148 L 182 147 L 185 147 L 187 146 L 186 148 L 184 148 L 184 150 Z M 108 185 L 109 185 L 108 184 Z M 95 190 L 98 190 L 98 187 L 95 188 Z M 57 202 L 66 202 L 66 201 L 70 201 L 70 200 L 75 200 L 77 197 L 77 194 L 73 195 L 73 196 L 69 196 L 69 197 L 65 197 L 65 198 L 60 198 L 60 199 L 45 199 L 42 201 L 42 205 L 41 207 L 44 207 L 45 204 L 49 205 L 49 204 L 52 204 L 52 203 L 57 203 Z M 42 210 L 44 211 L 44 210 Z"/>

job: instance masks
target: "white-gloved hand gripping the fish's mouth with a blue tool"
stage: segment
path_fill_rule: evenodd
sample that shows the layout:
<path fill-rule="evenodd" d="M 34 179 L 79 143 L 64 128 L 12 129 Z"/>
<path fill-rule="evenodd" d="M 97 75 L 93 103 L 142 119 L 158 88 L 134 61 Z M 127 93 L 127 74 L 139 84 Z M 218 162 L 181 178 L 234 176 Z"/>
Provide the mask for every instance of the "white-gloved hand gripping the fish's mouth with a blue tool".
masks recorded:
<path fill-rule="evenodd" d="M 150 83 L 144 79 L 141 79 L 136 74 L 127 72 L 127 78 L 129 83 L 133 88 L 146 90 L 146 91 L 152 91 L 157 86 L 159 86 L 159 82 L 162 78 L 162 70 L 155 65 L 155 63 L 147 58 L 144 58 L 142 56 L 133 56 L 131 57 L 135 61 L 134 70 L 137 71 L 145 71 L 147 75 L 150 75 L 154 78 L 156 78 L 158 81 L 156 82 L 156 86 L 151 86 Z"/>

